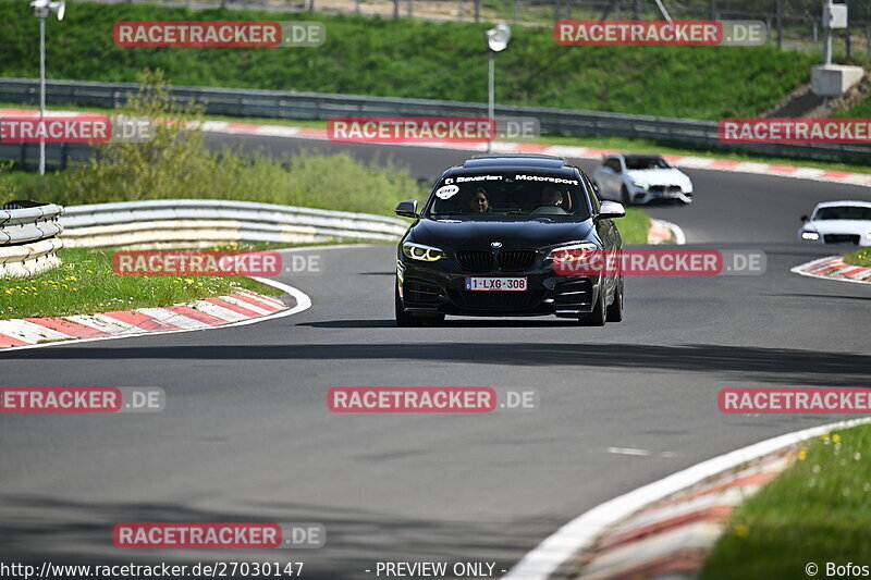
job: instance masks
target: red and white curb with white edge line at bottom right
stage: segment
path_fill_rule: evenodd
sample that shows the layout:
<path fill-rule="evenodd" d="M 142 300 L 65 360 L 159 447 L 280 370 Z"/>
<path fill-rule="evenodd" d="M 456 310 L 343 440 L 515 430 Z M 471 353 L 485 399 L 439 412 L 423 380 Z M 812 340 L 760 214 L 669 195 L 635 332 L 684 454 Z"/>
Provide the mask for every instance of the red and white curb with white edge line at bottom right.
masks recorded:
<path fill-rule="evenodd" d="M 646 578 L 638 570 L 647 566 L 653 572 L 649 576 L 679 578 L 687 573 L 677 571 L 680 558 L 690 564 L 698 563 L 695 551 L 713 545 L 722 532 L 717 513 L 732 509 L 745 493 L 752 493 L 771 479 L 772 472 L 785 467 L 778 461 L 787 459 L 775 454 L 783 454 L 823 433 L 867 423 L 871 423 L 871 417 L 780 435 L 709 459 L 605 502 L 547 538 L 502 580 Z M 755 467 L 737 469 L 749 462 Z M 712 478 L 716 481 L 713 482 Z M 654 533 L 659 526 L 667 528 L 662 533 Z M 682 551 L 684 547 L 686 550 Z M 671 562 L 671 565 L 666 566 L 664 562 Z M 674 568 L 674 573 L 657 575 L 657 566 Z"/>

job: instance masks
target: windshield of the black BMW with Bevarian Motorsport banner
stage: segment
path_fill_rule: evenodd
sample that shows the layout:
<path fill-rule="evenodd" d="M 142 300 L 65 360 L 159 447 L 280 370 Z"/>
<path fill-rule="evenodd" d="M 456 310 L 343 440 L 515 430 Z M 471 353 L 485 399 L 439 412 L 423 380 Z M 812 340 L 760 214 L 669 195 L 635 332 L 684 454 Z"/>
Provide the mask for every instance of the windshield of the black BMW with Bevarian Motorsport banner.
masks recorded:
<path fill-rule="evenodd" d="M 535 173 L 457 175 L 439 182 L 429 215 L 548 215 L 586 220 L 587 199 L 575 177 Z"/>

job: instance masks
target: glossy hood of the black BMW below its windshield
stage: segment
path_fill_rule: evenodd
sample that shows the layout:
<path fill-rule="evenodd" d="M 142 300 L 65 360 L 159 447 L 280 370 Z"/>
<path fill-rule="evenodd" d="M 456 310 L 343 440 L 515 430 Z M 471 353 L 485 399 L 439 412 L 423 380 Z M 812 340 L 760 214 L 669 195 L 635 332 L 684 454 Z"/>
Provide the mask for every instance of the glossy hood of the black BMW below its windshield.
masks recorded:
<path fill-rule="evenodd" d="M 410 239 L 443 249 L 489 249 L 491 242 L 503 248 L 543 248 L 593 237 L 591 221 L 536 220 L 462 221 L 420 220 Z"/>

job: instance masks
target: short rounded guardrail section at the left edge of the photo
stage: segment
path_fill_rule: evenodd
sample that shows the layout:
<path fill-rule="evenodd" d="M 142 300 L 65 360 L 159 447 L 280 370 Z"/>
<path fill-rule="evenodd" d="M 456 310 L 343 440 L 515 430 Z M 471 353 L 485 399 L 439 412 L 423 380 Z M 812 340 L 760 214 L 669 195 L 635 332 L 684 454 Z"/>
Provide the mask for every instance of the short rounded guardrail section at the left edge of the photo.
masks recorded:
<path fill-rule="evenodd" d="M 28 276 L 60 264 L 62 213 L 54 203 L 0 205 L 0 276 Z"/>

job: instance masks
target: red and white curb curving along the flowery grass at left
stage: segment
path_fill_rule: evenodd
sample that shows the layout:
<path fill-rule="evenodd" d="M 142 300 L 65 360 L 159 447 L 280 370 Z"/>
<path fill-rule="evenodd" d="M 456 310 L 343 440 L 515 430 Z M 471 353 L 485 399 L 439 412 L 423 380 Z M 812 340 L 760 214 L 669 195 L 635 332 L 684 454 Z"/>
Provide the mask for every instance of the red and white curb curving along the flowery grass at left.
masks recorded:
<path fill-rule="evenodd" d="M 311 306 L 303 292 L 269 279 L 254 279 L 290 294 L 296 306 L 247 289 L 164 308 L 137 308 L 97 314 L 0 320 L 0 351 L 68 344 L 168 334 L 216 328 L 240 326 L 282 318 Z"/>

